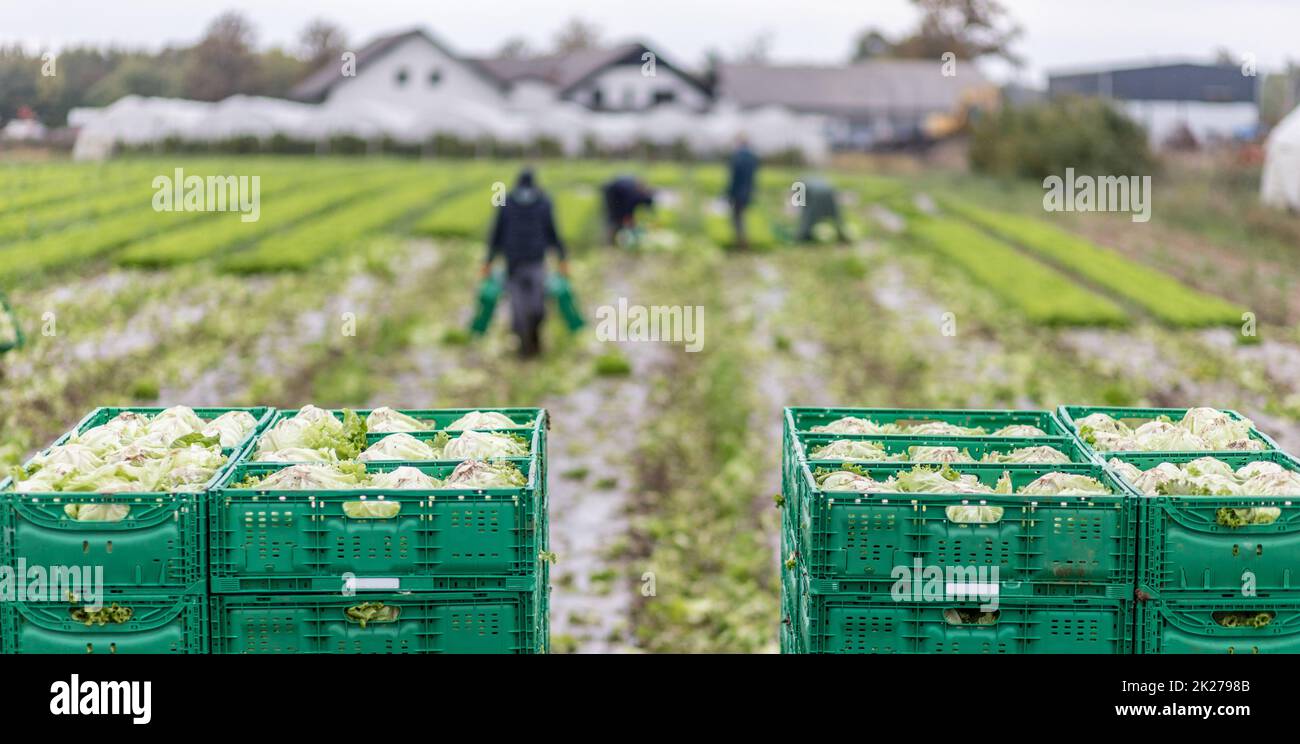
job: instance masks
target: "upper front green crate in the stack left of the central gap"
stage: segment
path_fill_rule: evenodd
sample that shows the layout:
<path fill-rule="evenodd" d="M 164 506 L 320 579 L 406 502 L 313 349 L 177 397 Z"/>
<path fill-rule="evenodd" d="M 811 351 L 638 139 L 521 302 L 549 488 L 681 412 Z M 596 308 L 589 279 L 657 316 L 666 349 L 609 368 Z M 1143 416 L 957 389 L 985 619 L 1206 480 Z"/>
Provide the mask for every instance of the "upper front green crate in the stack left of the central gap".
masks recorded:
<path fill-rule="evenodd" d="M 240 463 L 221 484 L 208 523 L 212 591 L 337 592 L 344 574 L 364 591 L 430 591 L 456 576 L 533 576 L 546 538 L 538 458 L 512 459 L 529 477 L 517 489 L 260 490 L 234 488 L 248 475 L 289 467 Z M 454 464 L 411 466 L 446 477 Z M 391 519 L 352 519 L 343 503 L 402 505 Z"/>

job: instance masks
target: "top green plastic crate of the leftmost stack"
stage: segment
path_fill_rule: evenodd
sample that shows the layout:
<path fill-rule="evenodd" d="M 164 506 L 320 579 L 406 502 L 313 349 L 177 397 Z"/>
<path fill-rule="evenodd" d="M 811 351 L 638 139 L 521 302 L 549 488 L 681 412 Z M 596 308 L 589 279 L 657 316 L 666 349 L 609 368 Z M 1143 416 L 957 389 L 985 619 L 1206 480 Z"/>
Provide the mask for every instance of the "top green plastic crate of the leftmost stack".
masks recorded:
<path fill-rule="evenodd" d="M 202 419 L 213 419 L 234 408 L 195 408 Z M 242 408 L 257 420 L 257 429 L 270 420 L 272 408 Z M 83 432 L 104 424 L 122 411 L 157 414 L 162 408 L 98 408 L 73 429 Z M 256 431 L 239 445 L 247 446 Z M 68 441 L 73 432 L 55 444 Z M 234 447 L 228 464 L 208 488 L 234 466 Z M 207 588 L 205 492 L 198 493 L 16 493 L 10 481 L 0 484 L 0 561 L 16 566 L 99 566 L 104 591 L 110 594 L 142 592 L 170 594 Z M 75 522 L 64 512 L 69 503 L 126 505 L 121 522 Z"/>

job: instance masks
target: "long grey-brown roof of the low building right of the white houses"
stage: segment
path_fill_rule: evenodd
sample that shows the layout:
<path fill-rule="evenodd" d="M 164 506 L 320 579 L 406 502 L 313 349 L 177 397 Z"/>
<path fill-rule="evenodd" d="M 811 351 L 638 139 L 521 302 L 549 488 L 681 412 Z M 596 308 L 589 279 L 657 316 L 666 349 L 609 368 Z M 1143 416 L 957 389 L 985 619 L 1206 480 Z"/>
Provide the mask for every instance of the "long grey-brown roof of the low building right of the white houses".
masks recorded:
<path fill-rule="evenodd" d="M 887 111 L 950 111 L 968 88 L 988 81 L 967 62 L 945 77 L 928 60 L 870 60 L 842 66 L 722 65 L 719 98 L 742 108 L 783 105 L 794 111 L 852 116 Z"/>

